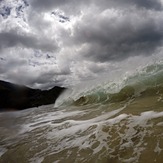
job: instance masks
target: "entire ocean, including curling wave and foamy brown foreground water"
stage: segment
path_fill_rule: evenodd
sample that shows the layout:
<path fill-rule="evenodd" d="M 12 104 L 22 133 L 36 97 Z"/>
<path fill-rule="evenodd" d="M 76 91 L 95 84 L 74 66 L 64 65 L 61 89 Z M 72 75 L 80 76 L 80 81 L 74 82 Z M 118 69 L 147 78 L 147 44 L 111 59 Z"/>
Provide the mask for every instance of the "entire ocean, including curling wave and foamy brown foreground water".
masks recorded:
<path fill-rule="evenodd" d="M 163 63 L 0 113 L 0 163 L 162 163 Z"/>

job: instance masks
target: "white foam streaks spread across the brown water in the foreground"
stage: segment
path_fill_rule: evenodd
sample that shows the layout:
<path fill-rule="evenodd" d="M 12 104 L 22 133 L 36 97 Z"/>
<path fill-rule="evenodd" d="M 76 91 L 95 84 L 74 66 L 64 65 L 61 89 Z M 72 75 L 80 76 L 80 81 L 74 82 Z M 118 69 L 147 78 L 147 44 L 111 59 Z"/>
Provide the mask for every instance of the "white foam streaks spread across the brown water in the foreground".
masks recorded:
<path fill-rule="evenodd" d="M 58 154 L 64 150 L 71 151 L 73 148 L 77 148 L 77 156 L 80 156 L 80 151 L 91 149 L 92 157 L 101 151 L 101 156 L 111 156 L 117 151 L 132 149 L 133 155 L 130 158 L 119 156 L 119 159 L 126 163 L 138 162 L 142 152 L 148 146 L 145 137 L 152 136 L 154 132 L 153 120 L 163 117 L 163 112 L 146 111 L 140 115 L 132 115 L 124 112 L 126 106 L 112 111 L 108 106 L 107 112 L 102 111 L 102 106 L 99 108 L 101 112 L 91 117 L 88 115 L 93 113 L 93 108 L 89 107 L 84 110 L 82 107 L 74 107 L 55 111 L 52 109 L 48 112 L 38 110 L 40 113 L 36 115 L 32 111 L 22 114 L 26 121 L 21 125 L 18 141 L 33 132 L 37 139 L 43 139 L 47 143 L 43 150 L 40 149 L 35 153 L 30 162 L 43 161 L 45 153 Z M 98 111 L 99 108 L 94 111 Z M 89 118 L 86 118 L 87 116 Z M 162 126 L 161 121 L 156 124 L 158 127 Z M 42 134 L 40 132 L 38 134 L 37 129 L 40 129 Z M 37 139 L 33 141 L 37 142 Z M 112 146 L 115 141 L 118 144 Z M 1 151 L 0 156 L 6 152 L 5 148 Z M 162 152 L 159 140 L 153 151 L 158 154 Z M 66 157 L 69 156 L 70 153 L 67 153 Z"/>

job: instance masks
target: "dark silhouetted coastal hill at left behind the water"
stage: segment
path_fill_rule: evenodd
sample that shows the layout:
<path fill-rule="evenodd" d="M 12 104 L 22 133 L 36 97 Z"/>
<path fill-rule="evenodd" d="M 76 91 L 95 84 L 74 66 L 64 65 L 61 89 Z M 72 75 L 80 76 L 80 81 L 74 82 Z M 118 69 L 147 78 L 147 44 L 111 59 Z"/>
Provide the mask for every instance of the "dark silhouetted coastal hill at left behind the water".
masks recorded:
<path fill-rule="evenodd" d="M 64 90 L 58 86 L 49 90 L 33 89 L 0 80 L 0 111 L 53 104 Z"/>

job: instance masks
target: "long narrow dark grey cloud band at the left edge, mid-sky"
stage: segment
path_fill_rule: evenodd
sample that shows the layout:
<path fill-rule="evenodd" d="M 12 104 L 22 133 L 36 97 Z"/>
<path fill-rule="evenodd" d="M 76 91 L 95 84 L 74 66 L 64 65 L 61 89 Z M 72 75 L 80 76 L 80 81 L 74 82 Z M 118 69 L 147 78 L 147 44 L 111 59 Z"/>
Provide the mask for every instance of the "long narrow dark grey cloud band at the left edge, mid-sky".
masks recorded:
<path fill-rule="evenodd" d="M 47 38 L 36 38 L 36 36 L 21 35 L 11 30 L 9 32 L 0 33 L 0 49 L 24 46 L 27 48 L 40 49 L 43 51 L 56 51 L 57 44 L 53 40 Z"/>

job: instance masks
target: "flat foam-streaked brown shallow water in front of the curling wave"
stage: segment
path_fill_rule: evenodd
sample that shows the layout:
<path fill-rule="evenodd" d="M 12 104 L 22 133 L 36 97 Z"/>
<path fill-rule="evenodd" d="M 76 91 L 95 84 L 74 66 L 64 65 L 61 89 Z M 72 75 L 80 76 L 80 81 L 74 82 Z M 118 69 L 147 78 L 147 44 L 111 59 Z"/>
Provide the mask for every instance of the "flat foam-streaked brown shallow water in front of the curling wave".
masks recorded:
<path fill-rule="evenodd" d="M 0 113 L 0 162 L 163 162 L 163 101 L 149 96 Z"/>

